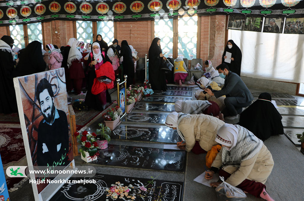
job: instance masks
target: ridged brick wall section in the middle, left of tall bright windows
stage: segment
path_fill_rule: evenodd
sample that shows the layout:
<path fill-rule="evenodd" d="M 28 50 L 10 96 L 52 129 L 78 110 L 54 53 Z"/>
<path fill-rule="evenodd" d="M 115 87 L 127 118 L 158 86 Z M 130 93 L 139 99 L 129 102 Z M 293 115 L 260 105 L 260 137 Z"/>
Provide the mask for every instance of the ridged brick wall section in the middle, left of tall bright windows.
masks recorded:
<path fill-rule="evenodd" d="M 126 40 L 138 52 L 138 57 L 145 57 L 151 45 L 151 21 L 117 22 L 117 40 L 119 44 Z"/>

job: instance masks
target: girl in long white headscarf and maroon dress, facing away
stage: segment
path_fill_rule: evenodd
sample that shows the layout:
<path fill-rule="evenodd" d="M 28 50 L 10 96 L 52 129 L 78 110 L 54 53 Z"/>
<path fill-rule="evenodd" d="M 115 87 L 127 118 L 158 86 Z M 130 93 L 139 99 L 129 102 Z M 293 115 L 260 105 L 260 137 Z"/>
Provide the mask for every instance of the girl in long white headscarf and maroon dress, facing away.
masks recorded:
<path fill-rule="evenodd" d="M 85 60 L 82 58 L 82 54 L 78 49 L 79 45 L 80 42 L 78 40 L 73 42 L 67 58 L 67 66 L 70 70 L 70 78 L 73 83 L 74 91 L 76 94 L 81 95 L 83 94 L 81 92 L 82 80 L 85 77 L 81 62 L 84 62 Z"/>

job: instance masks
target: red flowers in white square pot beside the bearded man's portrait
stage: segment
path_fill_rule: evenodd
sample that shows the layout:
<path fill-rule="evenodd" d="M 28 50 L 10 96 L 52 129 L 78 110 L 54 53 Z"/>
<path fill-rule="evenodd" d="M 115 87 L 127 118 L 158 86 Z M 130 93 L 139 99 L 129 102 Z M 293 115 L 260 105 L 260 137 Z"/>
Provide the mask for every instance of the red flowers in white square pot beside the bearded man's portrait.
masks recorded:
<path fill-rule="evenodd" d="M 81 144 L 81 148 L 79 149 L 81 159 L 85 162 L 97 160 L 97 156 L 99 155 L 96 141 L 97 135 L 95 133 L 91 134 L 88 131 L 83 131 L 81 135 L 78 132 L 75 132 L 74 135 Z"/>

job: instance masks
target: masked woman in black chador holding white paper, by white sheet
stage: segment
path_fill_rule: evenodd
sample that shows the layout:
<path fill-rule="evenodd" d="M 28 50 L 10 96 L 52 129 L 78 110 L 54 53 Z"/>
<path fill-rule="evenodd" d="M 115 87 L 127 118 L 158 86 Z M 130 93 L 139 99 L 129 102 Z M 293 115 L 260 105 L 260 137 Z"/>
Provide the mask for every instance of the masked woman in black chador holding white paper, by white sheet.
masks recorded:
<path fill-rule="evenodd" d="M 242 52 L 240 48 L 233 42 L 233 40 L 228 40 L 223 53 L 222 63 L 226 63 L 230 71 L 237 73 L 240 76 L 241 62 Z"/>

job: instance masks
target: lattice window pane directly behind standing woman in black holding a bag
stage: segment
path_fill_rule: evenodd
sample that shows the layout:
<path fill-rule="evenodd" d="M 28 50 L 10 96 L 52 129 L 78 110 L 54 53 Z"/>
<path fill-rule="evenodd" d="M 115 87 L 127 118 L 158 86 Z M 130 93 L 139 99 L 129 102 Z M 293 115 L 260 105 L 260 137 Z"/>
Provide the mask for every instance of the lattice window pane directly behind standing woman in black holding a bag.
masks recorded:
<path fill-rule="evenodd" d="M 166 57 L 173 57 L 173 19 L 155 19 L 154 35 L 161 39 L 163 53 Z"/>

